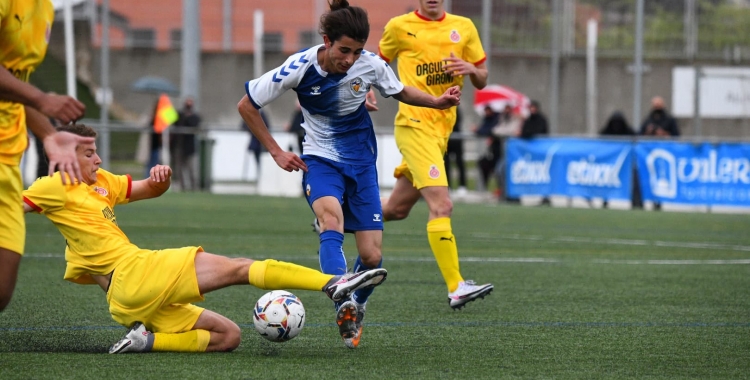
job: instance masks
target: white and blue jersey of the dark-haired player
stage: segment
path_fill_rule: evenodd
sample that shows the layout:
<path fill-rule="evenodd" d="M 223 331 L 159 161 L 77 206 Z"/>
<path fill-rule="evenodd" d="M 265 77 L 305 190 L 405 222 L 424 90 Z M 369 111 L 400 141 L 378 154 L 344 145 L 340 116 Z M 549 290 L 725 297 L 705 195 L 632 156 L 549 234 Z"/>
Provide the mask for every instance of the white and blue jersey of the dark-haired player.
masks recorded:
<path fill-rule="evenodd" d="M 327 73 L 318 62 L 321 48 L 314 46 L 290 56 L 280 67 L 245 83 L 245 92 L 258 109 L 289 89 L 297 93 L 305 119 L 305 156 L 374 164 L 377 143 L 365 96 L 371 86 L 389 97 L 404 85 L 385 61 L 365 50 L 346 73 Z"/>

